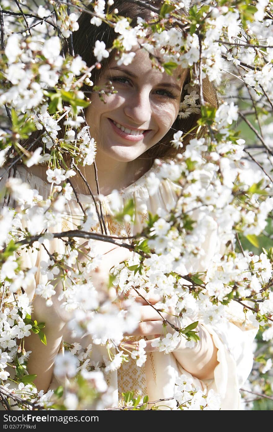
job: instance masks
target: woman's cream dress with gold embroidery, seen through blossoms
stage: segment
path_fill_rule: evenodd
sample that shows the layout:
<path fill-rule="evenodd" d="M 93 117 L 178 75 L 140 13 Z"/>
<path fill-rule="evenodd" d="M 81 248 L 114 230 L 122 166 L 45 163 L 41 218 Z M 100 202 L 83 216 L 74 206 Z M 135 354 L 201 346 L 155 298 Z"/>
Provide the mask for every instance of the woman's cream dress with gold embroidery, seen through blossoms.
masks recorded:
<path fill-rule="evenodd" d="M 153 167 L 138 181 L 126 187 L 119 194 L 123 203 L 129 198 L 134 199 L 135 203 L 135 223 L 128 223 L 126 225 L 113 222 L 111 217 L 107 217 L 107 226 L 110 234 L 113 235 L 134 235 L 141 231 L 144 226 L 145 219 L 147 219 L 148 212 L 157 213 L 157 209 L 170 210 L 176 203 L 177 193 L 180 187 L 170 180 L 162 180 L 159 184 L 158 190 L 151 196 L 146 186 L 146 178 L 149 172 L 156 172 L 157 166 Z M 0 170 L 3 172 L 3 170 Z M 31 175 L 27 172 L 24 166 L 20 166 L 17 173 L 23 181 L 28 182 L 31 188 L 37 189 L 39 194 L 44 197 L 48 196 L 50 191 L 50 184 L 41 180 L 41 178 Z M 3 183 L 7 176 L 4 175 Z M 2 182 L 1 182 L 2 183 Z M 2 183 L 2 184 L 3 184 Z M 80 202 L 83 206 L 92 203 L 92 199 L 87 195 L 78 195 Z M 109 202 L 111 196 L 104 197 L 102 202 L 105 214 L 111 216 L 113 214 Z M 60 224 L 54 227 L 54 232 L 67 231 L 75 229 L 78 225 L 78 217 L 82 216 L 82 210 L 76 200 L 71 200 L 67 206 L 67 213 L 63 215 Z M 188 272 L 197 272 L 206 270 L 210 264 L 213 255 L 220 250 L 219 241 L 217 237 L 217 226 L 210 230 L 207 235 L 205 244 L 202 247 L 207 250 L 205 259 L 200 263 L 192 261 L 189 264 Z M 54 239 L 48 242 L 47 248 L 50 253 L 63 251 L 63 241 Z M 43 283 L 45 276 L 41 275 L 39 271 L 39 263 L 48 260 L 48 256 L 44 248 L 40 248 L 37 253 L 25 253 L 22 258 L 24 259 L 25 267 L 38 267 L 35 280 L 29 284 L 27 294 L 30 299 L 35 295 L 35 286 L 38 283 Z M 56 296 L 54 296 L 56 297 Z M 71 332 L 67 328 L 67 321 L 69 316 L 60 308 L 59 302 L 54 299 L 53 308 L 56 312 L 58 320 L 63 321 L 63 341 L 68 343 L 78 342 L 82 348 L 87 347 L 92 343 L 91 337 L 85 336 L 82 339 L 75 339 L 71 337 Z M 48 308 L 52 309 L 52 308 Z M 49 311 L 48 311 L 49 312 Z M 51 313 L 51 312 L 50 312 Z M 193 317 L 194 320 L 195 317 Z M 51 319 L 51 318 L 50 318 Z M 195 320 L 196 321 L 196 320 Z M 175 391 L 175 381 L 181 375 L 185 374 L 188 378 L 193 380 L 193 384 L 198 386 L 204 391 L 213 389 L 220 394 L 221 409 L 222 410 L 240 410 L 243 409 L 240 404 L 239 389 L 242 387 L 248 375 L 251 372 L 253 363 L 252 354 L 252 341 L 257 333 L 257 328 L 251 324 L 245 325 L 245 315 L 242 308 L 238 303 L 232 302 L 229 306 L 229 321 L 217 325 L 208 325 L 202 323 L 199 318 L 199 330 L 205 329 L 213 338 L 213 343 L 217 347 L 217 360 L 219 364 L 214 370 L 214 379 L 203 379 L 202 381 L 192 376 L 190 373 L 183 369 L 179 359 L 182 359 L 182 349 L 178 348 L 169 354 L 163 352 L 149 353 L 147 360 L 142 367 L 135 365 L 131 361 L 122 365 L 118 371 L 108 373 L 105 378 L 107 384 L 113 389 L 113 407 L 118 406 L 121 401 L 121 393 L 129 390 L 135 390 L 135 395 L 148 394 L 149 400 L 159 400 L 163 398 L 173 397 Z M 200 350 L 205 350 L 205 342 L 199 342 Z M 91 359 L 94 361 L 102 361 L 103 356 L 107 357 L 107 352 L 104 346 L 94 345 Z M 50 388 L 55 388 L 58 385 L 56 377 L 53 376 Z M 164 401 L 165 407 L 160 409 L 176 409 L 176 401 Z M 158 403 L 162 405 L 162 403 Z"/>

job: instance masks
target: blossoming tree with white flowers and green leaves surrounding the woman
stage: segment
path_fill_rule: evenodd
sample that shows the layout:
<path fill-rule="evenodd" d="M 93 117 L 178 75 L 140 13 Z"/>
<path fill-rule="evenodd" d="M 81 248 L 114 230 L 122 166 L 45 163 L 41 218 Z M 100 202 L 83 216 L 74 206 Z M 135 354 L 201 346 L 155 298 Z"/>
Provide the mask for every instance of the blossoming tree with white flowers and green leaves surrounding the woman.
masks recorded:
<path fill-rule="evenodd" d="M 198 320 L 186 325 L 193 312 L 206 323 L 226 319 L 231 301 L 242 305 L 245 326 L 259 329 L 254 349 L 254 367 L 242 388 L 245 407 L 252 399 L 273 399 L 270 374 L 273 338 L 273 248 L 270 247 L 273 209 L 272 111 L 273 36 L 272 0 L 206 0 L 197 4 L 165 1 L 160 9 L 149 1 L 130 0 L 151 10 L 147 21 L 130 19 L 113 10 L 113 0 L 96 0 L 88 9 L 90 25 L 113 26 L 116 39 L 109 49 L 103 41 L 94 44 L 97 62 L 87 67 L 74 54 L 73 36 L 77 18 L 86 1 L 3 0 L 0 6 L 0 397 L 6 409 L 97 409 L 108 406 L 110 391 L 105 375 L 120 367 L 128 356 L 138 366 L 146 360 L 146 341 L 133 348 L 123 342 L 128 327 L 139 321 L 139 308 L 130 296 L 119 309 L 119 295 L 145 288 L 157 292 L 161 316 L 175 309 L 176 324 L 164 319 L 155 344 L 169 353 L 181 338 L 198 343 Z M 184 11 L 184 12 L 183 12 Z M 114 92 L 94 86 L 92 73 L 113 49 L 119 65 L 129 65 L 135 44 L 147 50 L 154 66 L 172 74 L 176 67 L 190 70 L 179 118 L 198 114 L 195 138 L 185 144 L 185 133 L 174 133 L 172 144 L 181 149 L 176 161 L 156 160 L 156 174 L 147 176 L 152 195 L 160 180 L 169 178 L 180 187 L 169 212 L 149 214 L 142 232 L 130 239 L 110 235 L 107 215 L 100 201 L 83 206 L 71 178 L 81 165 L 96 170 L 96 143 L 85 122 L 89 105 L 83 86 L 100 98 Z M 64 47 L 67 47 L 64 49 Z M 156 52 L 160 50 L 161 59 Z M 221 101 L 213 107 L 204 101 L 204 78 L 217 82 Z M 204 135 L 204 128 L 206 133 Z M 61 133 L 63 132 L 63 133 Z M 33 138 L 34 137 L 34 138 Z M 23 143 L 26 143 L 24 145 Z M 39 145 L 37 146 L 37 143 Z M 69 161 L 69 162 L 67 162 Z M 44 199 L 16 175 L 19 164 L 31 168 L 47 164 L 50 194 Z M 92 167 L 91 167 L 92 165 Z M 205 178 L 205 184 L 204 184 Z M 86 180 L 84 179 L 85 183 Z M 87 185 L 88 186 L 88 185 Z M 94 192 L 90 195 L 94 197 Z M 77 229 L 54 227 L 65 219 L 66 204 L 76 197 L 82 214 Z M 95 202 L 95 200 L 94 200 Z M 196 208 L 201 211 L 195 212 Z M 130 222 L 134 204 L 122 205 L 112 194 L 116 222 Z M 217 224 L 225 250 L 211 257 L 203 272 L 185 272 L 188 262 L 202 261 L 206 233 Z M 93 229 L 99 228 L 100 233 Z M 50 253 L 53 239 L 63 243 L 64 253 Z M 85 239 L 85 248 L 82 248 Z M 132 258 L 111 270 L 109 290 L 103 295 L 86 272 L 97 267 L 96 240 L 134 251 Z M 43 283 L 35 294 L 52 306 L 58 295 L 71 325 L 80 336 L 88 332 L 94 344 L 106 346 L 108 357 L 97 364 L 92 345 L 63 342 L 56 358 L 55 375 L 62 381 L 55 391 L 37 392 L 27 370 L 24 343 L 32 333 L 46 344 L 47 327 L 31 319 L 27 295 L 37 266 L 24 265 L 24 258 L 43 250 L 40 263 Z M 84 260 L 83 260 L 84 256 Z M 108 277 L 108 276 L 107 276 Z M 57 283 L 63 289 L 57 292 Z M 199 318 L 198 318 L 199 319 Z M 173 333 L 167 332 L 167 325 Z M 104 374 L 103 374 L 104 372 Z M 219 409 L 217 394 L 206 397 L 182 375 L 174 396 L 179 409 Z M 147 409 L 153 402 L 133 394 L 123 395 L 122 409 Z M 264 402 L 263 402 L 264 403 Z"/>

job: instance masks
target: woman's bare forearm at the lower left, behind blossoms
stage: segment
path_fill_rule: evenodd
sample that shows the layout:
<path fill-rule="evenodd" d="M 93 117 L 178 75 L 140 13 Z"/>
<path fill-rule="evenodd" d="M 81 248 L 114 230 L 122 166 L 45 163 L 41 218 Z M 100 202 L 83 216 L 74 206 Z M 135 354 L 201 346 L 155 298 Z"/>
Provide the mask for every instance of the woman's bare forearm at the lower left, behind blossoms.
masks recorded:
<path fill-rule="evenodd" d="M 55 300 L 55 299 L 54 299 Z M 37 295 L 32 302 L 34 312 L 32 320 L 44 322 L 44 333 L 47 338 L 47 345 L 39 339 L 38 334 L 31 332 L 31 336 L 25 338 L 25 349 L 31 351 L 28 359 L 28 373 L 37 375 L 34 383 L 38 389 L 47 391 L 52 379 L 54 361 L 58 354 L 63 336 L 65 322 L 56 312 L 54 304 L 46 306 L 46 300 Z"/>

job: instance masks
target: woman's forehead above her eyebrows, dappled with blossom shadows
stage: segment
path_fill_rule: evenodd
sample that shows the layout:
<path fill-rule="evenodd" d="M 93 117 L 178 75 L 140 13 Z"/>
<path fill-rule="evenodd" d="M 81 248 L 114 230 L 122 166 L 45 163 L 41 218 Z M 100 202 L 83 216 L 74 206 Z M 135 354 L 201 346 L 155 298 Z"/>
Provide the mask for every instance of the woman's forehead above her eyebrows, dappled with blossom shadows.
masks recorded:
<path fill-rule="evenodd" d="M 132 63 L 128 66 L 124 64 L 118 64 L 118 60 L 113 57 L 108 65 L 105 67 L 105 72 L 110 72 L 113 74 L 114 70 L 122 70 L 122 72 L 127 72 L 128 74 L 135 76 L 145 82 L 151 82 L 154 84 L 164 82 L 178 84 L 180 87 L 183 85 L 185 77 L 187 75 L 187 70 L 182 69 L 182 67 L 177 67 L 173 70 L 173 74 L 169 75 L 165 71 L 162 72 L 158 67 L 155 66 L 157 60 L 154 61 L 150 59 L 149 53 L 144 48 L 133 47 L 132 51 L 135 57 Z M 158 55 L 157 55 L 158 54 Z M 154 57 L 160 58 L 160 54 L 154 53 Z"/>

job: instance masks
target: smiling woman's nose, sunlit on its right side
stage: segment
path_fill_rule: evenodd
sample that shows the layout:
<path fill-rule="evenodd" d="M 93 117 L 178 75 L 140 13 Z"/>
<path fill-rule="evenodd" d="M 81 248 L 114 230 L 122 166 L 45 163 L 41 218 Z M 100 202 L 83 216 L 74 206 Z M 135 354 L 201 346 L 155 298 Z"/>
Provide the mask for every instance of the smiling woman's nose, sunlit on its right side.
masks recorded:
<path fill-rule="evenodd" d="M 130 98 L 128 98 L 124 106 L 124 113 L 131 121 L 139 126 L 150 122 L 152 113 L 150 90 L 138 89 L 133 94 L 131 93 Z"/>

